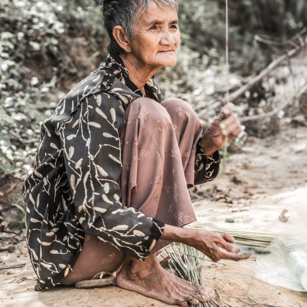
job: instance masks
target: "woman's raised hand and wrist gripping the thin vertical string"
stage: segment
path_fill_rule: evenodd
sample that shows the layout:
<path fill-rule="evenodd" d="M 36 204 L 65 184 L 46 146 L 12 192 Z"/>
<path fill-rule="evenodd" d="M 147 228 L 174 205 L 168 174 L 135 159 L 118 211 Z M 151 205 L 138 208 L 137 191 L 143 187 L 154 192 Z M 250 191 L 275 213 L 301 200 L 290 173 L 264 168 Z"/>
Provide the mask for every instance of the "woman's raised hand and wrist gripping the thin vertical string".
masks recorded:
<path fill-rule="evenodd" d="M 228 102 L 206 130 L 201 143 L 206 156 L 222 148 L 225 144 L 226 136 L 228 136 L 228 142 L 231 142 L 242 131 L 238 115 L 233 112 L 234 108 L 234 104 Z"/>

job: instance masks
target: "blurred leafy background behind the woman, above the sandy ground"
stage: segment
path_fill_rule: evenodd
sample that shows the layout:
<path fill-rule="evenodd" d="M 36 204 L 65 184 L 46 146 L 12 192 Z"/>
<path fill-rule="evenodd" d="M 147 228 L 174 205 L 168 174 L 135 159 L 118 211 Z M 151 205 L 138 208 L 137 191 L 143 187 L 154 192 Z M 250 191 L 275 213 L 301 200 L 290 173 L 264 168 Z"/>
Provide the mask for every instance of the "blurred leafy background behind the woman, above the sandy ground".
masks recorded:
<path fill-rule="evenodd" d="M 178 62 L 159 71 L 156 80 L 164 98 L 188 101 L 206 126 L 225 103 L 225 0 L 178 4 Z M 245 119 L 245 136 L 277 133 L 283 116 L 306 125 L 307 1 L 228 0 L 228 10 L 229 87 Z M 1 229 L 8 219 L 12 227 L 23 225 L 21 186 L 33 169 L 40 124 L 105 59 L 107 45 L 95 0 L 0 1 Z M 297 54 L 294 67 L 289 58 Z M 263 121 L 247 118 L 267 112 L 272 115 Z M 245 139 L 237 146 L 244 146 Z M 15 210 L 10 217 L 4 213 L 9 208 Z"/>

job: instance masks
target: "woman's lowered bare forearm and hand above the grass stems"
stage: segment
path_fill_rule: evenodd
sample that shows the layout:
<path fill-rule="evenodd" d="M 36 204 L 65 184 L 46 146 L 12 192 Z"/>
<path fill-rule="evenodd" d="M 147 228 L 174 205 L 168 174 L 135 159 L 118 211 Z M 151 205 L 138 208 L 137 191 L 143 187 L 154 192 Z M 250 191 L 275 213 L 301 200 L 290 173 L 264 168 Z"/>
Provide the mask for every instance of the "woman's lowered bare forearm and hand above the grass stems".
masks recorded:
<path fill-rule="evenodd" d="M 220 259 L 238 261 L 250 257 L 250 255 L 240 253 L 239 248 L 234 245 L 234 237 L 229 234 L 221 236 L 207 231 L 190 230 L 165 224 L 161 239 L 192 246 L 214 262 Z"/>

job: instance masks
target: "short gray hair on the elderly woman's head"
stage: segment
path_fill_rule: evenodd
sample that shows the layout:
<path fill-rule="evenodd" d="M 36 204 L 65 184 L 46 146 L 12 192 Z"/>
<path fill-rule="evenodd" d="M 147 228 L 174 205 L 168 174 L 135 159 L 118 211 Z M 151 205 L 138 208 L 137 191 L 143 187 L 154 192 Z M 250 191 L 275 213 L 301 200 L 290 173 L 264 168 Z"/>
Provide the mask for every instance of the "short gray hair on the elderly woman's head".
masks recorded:
<path fill-rule="evenodd" d="M 97 0 L 101 6 L 103 25 L 110 38 L 108 52 L 123 52 L 113 38 L 113 28 L 122 26 L 129 39 L 133 38 L 134 27 L 139 17 L 145 13 L 149 4 L 155 3 L 158 7 L 170 7 L 178 11 L 176 0 Z"/>

